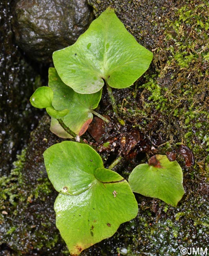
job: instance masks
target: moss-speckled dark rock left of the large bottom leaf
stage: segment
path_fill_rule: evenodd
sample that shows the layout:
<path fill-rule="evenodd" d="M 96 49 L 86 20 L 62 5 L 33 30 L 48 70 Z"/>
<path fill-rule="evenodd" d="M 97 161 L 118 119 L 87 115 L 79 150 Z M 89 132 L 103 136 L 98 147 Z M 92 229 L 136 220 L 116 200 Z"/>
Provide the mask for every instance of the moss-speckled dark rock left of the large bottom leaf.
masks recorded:
<path fill-rule="evenodd" d="M 57 192 L 47 178 L 42 156 L 46 148 L 61 139 L 49 127 L 50 118 L 44 115 L 31 133 L 27 150 L 22 150 L 7 178 L 0 179 L 0 209 L 4 209 L 0 215 L 2 256 L 64 255 L 61 249 L 65 244 L 55 226 L 53 210 Z"/>

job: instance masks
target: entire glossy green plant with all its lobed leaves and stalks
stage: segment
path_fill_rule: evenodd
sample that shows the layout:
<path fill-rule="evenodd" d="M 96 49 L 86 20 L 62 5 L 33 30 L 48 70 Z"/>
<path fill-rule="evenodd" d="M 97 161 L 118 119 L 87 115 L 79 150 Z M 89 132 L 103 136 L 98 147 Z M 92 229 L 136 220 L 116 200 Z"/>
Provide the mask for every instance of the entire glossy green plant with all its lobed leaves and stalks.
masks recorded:
<path fill-rule="evenodd" d="M 132 85 L 151 61 L 152 52 L 139 45 L 114 9 L 108 8 L 74 45 L 53 53 L 55 68 L 49 68 L 48 87 L 38 88 L 31 96 L 31 104 L 46 108 L 51 116 L 51 132 L 71 138 L 44 152 L 49 180 L 59 192 L 54 205 L 56 225 L 71 255 L 112 236 L 121 223 L 136 217 L 138 203 L 133 192 L 159 198 L 172 206 L 184 194 L 182 169 L 175 159 L 152 156 L 148 163 L 134 168 L 128 183 L 110 170 L 117 161 L 106 169 L 95 151 L 100 152 L 99 148 L 92 148 L 80 138 L 93 114 L 110 122 L 94 111 L 104 85 L 117 121 L 125 124 L 112 88 Z M 117 158 L 120 159 L 121 156 Z"/>

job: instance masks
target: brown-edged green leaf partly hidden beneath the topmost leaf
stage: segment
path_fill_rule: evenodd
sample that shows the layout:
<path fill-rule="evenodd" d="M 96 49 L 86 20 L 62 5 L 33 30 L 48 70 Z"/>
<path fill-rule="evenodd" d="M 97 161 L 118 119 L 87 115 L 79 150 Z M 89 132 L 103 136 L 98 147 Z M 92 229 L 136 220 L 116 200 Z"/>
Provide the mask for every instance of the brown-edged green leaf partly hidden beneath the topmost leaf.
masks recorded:
<path fill-rule="evenodd" d="M 92 122 L 93 114 L 91 111 L 97 108 L 102 90 L 91 95 L 76 93 L 62 82 L 55 68 L 49 68 L 49 87 L 53 91 L 53 107 L 60 111 L 68 109 L 68 113 L 62 118 L 64 124 L 76 134 L 84 134 Z M 69 137 L 58 121 L 53 120 L 51 122 L 50 130 L 60 137 Z"/>

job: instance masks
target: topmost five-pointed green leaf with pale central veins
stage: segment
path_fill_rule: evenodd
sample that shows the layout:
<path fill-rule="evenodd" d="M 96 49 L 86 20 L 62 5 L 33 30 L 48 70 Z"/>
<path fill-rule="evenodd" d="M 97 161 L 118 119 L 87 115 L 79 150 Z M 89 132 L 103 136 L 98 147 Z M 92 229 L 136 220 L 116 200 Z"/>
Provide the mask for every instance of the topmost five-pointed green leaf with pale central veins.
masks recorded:
<path fill-rule="evenodd" d="M 104 85 L 132 85 L 149 67 L 152 52 L 139 45 L 108 8 L 75 42 L 53 53 L 62 81 L 77 93 L 95 93 Z"/>

